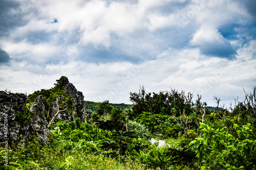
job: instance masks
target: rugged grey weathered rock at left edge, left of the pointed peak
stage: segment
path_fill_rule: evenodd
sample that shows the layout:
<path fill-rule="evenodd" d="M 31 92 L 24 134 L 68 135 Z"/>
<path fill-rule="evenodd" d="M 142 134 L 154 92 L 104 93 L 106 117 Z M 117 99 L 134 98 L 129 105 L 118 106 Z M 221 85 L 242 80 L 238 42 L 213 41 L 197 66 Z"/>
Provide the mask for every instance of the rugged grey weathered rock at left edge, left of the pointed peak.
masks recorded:
<path fill-rule="evenodd" d="M 19 142 L 20 135 L 23 136 L 23 142 L 26 142 L 33 135 L 38 135 L 39 142 L 46 144 L 48 141 L 48 123 L 44 118 L 44 104 L 42 104 L 42 96 L 39 95 L 34 104 L 31 106 L 32 114 L 30 120 L 25 126 L 21 126 L 20 120 L 17 118 L 17 113 L 28 109 L 26 107 L 27 96 L 19 93 L 7 93 L 0 91 L 0 140 L 7 138 L 9 141 Z M 7 128 L 4 116 L 7 114 Z"/>

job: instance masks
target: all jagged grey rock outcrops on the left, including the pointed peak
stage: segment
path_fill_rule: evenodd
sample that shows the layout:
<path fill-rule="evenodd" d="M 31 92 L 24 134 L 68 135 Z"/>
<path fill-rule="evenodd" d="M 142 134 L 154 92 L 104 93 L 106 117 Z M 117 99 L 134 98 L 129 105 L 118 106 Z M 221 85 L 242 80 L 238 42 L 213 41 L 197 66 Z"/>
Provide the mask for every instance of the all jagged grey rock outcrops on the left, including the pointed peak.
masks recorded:
<path fill-rule="evenodd" d="M 84 107 L 83 94 L 77 91 L 72 83 L 66 78 L 63 80 L 63 93 L 73 98 L 73 111 L 80 118 L 80 123 L 90 122 L 91 115 Z M 50 118 L 57 113 L 58 102 L 64 102 L 65 96 L 56 96 L 52 111 L 49 112 Z M 43 96 L 38 95 L 30 108 L 26 107 L 27 96 L 22 93 L 9 93 L 0 91 L 0 141 L 5 138 L 14 143 L 18 143 L 23 138 L 23 143 L 29 141 L 34 135 L 38 136 L 41 144 L 46 144 L 50 131 L 48 130 L 48 121 L 46 118 L 46 110 Z M 63 106 L 59 106 L 59 110 L 63 110 Z M 73 121 L 73 113 L 69 110 L 60 112 L 56 120 L 71 122 Z M 7 120 L 7 121 L 6 121 Z M 7 129 L 7 131 L 5 131 Z"/>

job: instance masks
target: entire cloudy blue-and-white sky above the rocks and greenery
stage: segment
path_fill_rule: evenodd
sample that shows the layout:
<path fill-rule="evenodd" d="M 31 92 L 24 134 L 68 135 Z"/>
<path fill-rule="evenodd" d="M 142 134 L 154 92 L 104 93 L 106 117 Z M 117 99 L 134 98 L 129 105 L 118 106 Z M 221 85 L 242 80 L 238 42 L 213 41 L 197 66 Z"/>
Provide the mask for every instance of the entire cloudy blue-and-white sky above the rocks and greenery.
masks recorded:
<path fill-rule="evenodd" d="M 61 76 L 84 100 L 176 89 L 233 106 L 256 85 L 254 0 L 0 0 L 0 90 Z M 230 105 L 231 104 L 231 105 Z"/>

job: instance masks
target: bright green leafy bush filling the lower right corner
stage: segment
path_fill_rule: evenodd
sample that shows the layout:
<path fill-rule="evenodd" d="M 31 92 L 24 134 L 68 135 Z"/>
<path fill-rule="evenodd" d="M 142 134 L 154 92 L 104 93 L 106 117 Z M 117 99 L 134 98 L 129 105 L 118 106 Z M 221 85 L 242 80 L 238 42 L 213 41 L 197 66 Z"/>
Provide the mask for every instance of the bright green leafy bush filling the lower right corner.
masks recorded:
<path fill-rule="evenodd" d="M 236 134 L 227 127 L 213 129 L 201 124 L 203 136 L 190 142 L 202 169 L 255 169 L 256 138 L 251 125 L 234 125 Z"/>

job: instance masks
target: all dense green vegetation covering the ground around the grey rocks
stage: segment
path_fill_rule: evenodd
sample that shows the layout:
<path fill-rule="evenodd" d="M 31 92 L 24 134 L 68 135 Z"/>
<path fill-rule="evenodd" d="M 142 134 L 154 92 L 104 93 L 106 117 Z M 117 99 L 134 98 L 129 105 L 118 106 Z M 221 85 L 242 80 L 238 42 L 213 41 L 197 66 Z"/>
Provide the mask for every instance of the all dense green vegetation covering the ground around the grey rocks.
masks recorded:
<path fill-rule="evenodd" d="M 28 104 L 42 94 L 46 108 L 62 94 L 55 87 L 28 96 Z M 69 97 L 66 96 L 68 99 Z M 47 145 L 38 138 L 9 148 L 9 166 L 1 169 L 256 169 L 255 88 L 234 108 L 207 109 L 201 96 L 144 87 L 130 93 L 130 105 L 109 101 L 84 106 L 91 123 L 57 122 Z M 64 104 L 64 103 L 63 103 Z M 47 115 L 47 111 L 46 111 Z M 151 138 L 166 145 L 152 144 Z M 0 152 L 3 159 L 4 151 Z"/>

